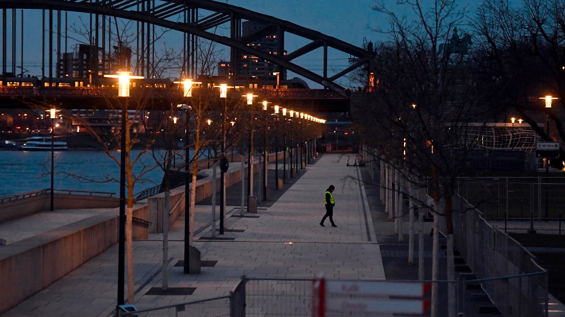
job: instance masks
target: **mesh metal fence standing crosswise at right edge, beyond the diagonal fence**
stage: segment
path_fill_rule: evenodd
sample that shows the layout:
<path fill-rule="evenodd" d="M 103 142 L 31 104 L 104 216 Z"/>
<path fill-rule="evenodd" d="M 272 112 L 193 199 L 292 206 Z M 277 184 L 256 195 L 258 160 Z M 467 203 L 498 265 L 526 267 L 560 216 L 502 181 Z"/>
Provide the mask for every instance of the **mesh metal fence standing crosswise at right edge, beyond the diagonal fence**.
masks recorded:
<path fill-rule="evenodd" d="M 488 219 L 558 219 L 565 206 L 563 178 L 462 179 L 458 193 Z M 547 212 L 547 214 L 546 214 Z"/>

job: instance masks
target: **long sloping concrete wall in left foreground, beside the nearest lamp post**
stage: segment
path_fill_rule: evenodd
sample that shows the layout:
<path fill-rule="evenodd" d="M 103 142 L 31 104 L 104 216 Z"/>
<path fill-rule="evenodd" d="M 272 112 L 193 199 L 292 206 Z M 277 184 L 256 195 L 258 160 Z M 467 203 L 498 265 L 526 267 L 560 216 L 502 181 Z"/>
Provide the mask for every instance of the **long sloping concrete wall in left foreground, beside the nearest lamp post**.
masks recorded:
<path fill-rule="evenodd" d="M 137 207 L 133 216 L 146 219 L 147 206 Z M 118 220 L 116 210 L 0 246 L 0 313 L 117 243 Z M 133 223 L 133 239 L 147 239 L 147 232 Z"/>

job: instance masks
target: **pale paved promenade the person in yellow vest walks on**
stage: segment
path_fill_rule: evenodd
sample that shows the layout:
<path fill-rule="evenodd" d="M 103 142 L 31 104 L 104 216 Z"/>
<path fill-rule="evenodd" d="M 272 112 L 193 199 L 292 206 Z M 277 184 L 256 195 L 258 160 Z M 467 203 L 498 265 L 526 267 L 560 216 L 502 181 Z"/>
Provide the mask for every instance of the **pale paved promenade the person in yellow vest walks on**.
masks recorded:
<path fill-rule="evenodd" d="M 169 234 L 169 287 L 193 287 L 192 295 L 154 296 L 162 273 L 161 235 L 134 241 L 135 305 L 138 309 L 171 305 L 229 294 L 241 275 L 252 278 L 312 278 L 323 272 L 332 279 L 384 279 L 363 184 L 357 169 L 347 168 L 340 155 L 324 155 L 258 218 L 230 217 L 225 232 L 234 240 L 198 240 L 210 236 L 204 230 L 194 245 L 202 259 L 218 261 L 198 275 L 185 275 L 175 266 L 183 257 L 184 217 Z M 271 167 L 271 166 L 270 166 Z M 279 166 L 280 167 L 280 166 Z M 325 189 L 333 184 L 334 222 L 321 227 L 325 213 Z M 198 206 L 198 209 L 210 208 Z M 232 213 L 238 209 L 228 207 Z M 205 210 L 202 210 L 205 212 Z M 289 244 L 292 242 L 292 244 Z M 118 245 L 55 281 L 2 316 L 107 316 L 116 305 Z M 127 297 L 127 296 L 126 296 Z"/>

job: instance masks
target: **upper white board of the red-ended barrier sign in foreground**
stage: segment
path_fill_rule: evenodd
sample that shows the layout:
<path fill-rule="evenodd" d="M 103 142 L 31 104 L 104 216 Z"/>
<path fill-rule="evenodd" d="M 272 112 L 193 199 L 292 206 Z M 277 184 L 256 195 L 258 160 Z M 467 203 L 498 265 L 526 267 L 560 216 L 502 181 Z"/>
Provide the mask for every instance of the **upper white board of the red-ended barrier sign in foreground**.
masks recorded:
<path fill-rule="evenodd" d="M 325 281 L 327 294 L 423 297 L 431 288 L 432 283 L 429 282 Z"/>

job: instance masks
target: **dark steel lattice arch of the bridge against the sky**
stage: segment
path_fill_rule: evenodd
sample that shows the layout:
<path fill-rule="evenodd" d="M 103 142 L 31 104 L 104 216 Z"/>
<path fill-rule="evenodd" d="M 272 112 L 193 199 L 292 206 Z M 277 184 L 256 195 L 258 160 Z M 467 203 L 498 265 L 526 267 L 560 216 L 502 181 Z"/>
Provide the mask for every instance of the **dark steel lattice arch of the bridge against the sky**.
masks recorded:
<path fill-rule="evenodd" d="M 260 59 L 278 65 L 280 69 L 288 69 L 291 72 L 297 73 L 300 76 L 320 83 L 342 94 L 345 93 L 344 87 L 341 87 L 334 81 L 361 65 L 369 63 L 374 56 L 372 52 L 364 50 L 361 47 L 351 45 L 315 30 L 301 27 L 289 21 L 210 0 L 153 0 L 153 2 L 151 0 L 0 0 L 0 8 L 83 12 L 158 25 L 163 28 L 177 30 L 231 47 L 232 64 L 236 62 L 235 54 L 237 50 L 247 52 L 248 54 L 253 54 Z M 198 9 L 211 13 L 207 16 L 199 17 Z M 3 12 L 5 15 L 6 11 Z M 179 17 L 179 15 L 182 14 L 185 15 L 186 20 L 187 12 L 189 12 L 188 14 L 191 17 L 189 17 L 186 23 L 184 21 L 179 22 L 175 20 L 175 17 Z M 264 24 L 266 27 L 243 37 L 241 36 L 242 20 L 254 21 Z M 210 29 L 227 23 L 230 25 L 231 34 L 229 37 L 210 32 Z M 5 25 L 3 32 L 6 32 Z M 268 52 L 260 51 L 247 45 L 252 41 L 273 33 L 276 33 L 279 38 L 277 42 L 277 55 L 269 54 Z M 284 55 L 285 33 L 292 33 L 296 36 L 307 38 L 311 42 Z M 5 38 L 6 36 L 4 34 L 4 41 Z M 4 49 L 5 47 L 4 45 Z M 322 76 L 293 63 L 293 59 L 320 47 L 324 48 L 323 56 L 321 57 L 324 61 Z M 333 76 L 328 76 L 328 47 L 354 56 L 354 63 L 341 72 Z M 4 61 L 4 65 L 5 64 Z M 234 67 L 234 69 L 235 68 L 236 67 Z M 237 76 L 237 74 L 234 75 Z"/>

